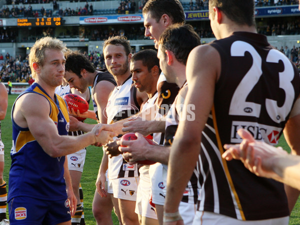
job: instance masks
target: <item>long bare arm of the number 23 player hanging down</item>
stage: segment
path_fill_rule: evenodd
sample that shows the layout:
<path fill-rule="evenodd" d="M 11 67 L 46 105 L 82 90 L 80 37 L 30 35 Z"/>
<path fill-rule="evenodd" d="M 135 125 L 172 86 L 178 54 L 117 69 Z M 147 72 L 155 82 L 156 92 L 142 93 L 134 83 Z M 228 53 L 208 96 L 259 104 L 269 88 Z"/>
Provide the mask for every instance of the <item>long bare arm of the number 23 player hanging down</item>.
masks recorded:
<path fill-rule="evenodd" d="M 201 132 L 213 104 L 214 86 L 219 68 L 220 56 L 209 45 L 195 47 L 188 56 L 186 65 L 188 91 L 184 106 L 185 109 L 193 107 L 196 116 L 194 119 L 180 120 L 171 146 L 165 213 L 178 211 L 184 188 L 196 165 L 200 151 Z M 182 117 L 188 118 L 190 115 L 187 112 L 188 110 L 184 110 Z M 178 166 L 178 161 L 180 165 L 184 165 L 184 168 Z"/>

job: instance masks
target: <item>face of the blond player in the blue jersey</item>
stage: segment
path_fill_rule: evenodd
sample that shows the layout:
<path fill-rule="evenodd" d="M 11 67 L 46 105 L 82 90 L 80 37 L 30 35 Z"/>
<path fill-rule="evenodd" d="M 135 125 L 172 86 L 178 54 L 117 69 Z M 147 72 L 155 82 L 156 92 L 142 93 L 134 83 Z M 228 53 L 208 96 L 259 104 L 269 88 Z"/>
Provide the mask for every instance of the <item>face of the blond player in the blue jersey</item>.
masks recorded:
<path fill-rule="evenodd" d="M 65 58 L 57 49 L 45 49 L 43 64 L 39 65 L 38 78 L 51 86 L 58 86 L 63 81 Z"/>

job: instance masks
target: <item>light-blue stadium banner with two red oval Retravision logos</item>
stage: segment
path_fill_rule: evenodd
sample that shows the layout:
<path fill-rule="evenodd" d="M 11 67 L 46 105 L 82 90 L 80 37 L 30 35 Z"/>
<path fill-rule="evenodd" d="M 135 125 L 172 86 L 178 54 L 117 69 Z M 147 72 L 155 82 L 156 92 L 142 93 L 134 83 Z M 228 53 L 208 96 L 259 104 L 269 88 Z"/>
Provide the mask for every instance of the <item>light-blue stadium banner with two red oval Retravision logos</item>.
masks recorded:
<path fill-rule="evenodd" d="M 84 16 L 79 18 L 79 24 L 91 23 L 122 23 L 143 22 L 142 14 L 131 15 L 107 15 L 107 16 Z"/>

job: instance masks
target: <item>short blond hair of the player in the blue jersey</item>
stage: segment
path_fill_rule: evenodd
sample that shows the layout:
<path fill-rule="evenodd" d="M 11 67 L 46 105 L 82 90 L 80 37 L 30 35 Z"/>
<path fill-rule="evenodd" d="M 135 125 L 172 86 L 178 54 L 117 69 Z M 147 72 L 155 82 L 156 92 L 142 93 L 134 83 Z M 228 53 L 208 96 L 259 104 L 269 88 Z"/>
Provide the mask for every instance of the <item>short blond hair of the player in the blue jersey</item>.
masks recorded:
<path fill-rule="evenodd" d="M 36 62 L 39 65 L 43 65 L 45 49 L 56 49 L 64 52 L 66 46 L 65 43 L 55 37 L 46 36 L 36 40 L 29 53 L 29 66 L 33 79 L 36 78 L 36 72 L 32 67 L 32 63 Z"/>

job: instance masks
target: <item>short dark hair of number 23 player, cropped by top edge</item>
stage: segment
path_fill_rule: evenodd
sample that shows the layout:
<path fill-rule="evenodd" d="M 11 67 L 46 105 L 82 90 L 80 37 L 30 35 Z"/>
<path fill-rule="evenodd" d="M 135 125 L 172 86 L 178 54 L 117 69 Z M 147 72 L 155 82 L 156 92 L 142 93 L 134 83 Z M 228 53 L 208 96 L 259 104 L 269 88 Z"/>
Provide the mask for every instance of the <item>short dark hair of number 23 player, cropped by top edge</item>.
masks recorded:
<path fill-rule="evenodd" d="M 239 25 L 255 25 L 254 0 L 209 0 L 209 12 L 217 7 Z"/>

